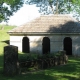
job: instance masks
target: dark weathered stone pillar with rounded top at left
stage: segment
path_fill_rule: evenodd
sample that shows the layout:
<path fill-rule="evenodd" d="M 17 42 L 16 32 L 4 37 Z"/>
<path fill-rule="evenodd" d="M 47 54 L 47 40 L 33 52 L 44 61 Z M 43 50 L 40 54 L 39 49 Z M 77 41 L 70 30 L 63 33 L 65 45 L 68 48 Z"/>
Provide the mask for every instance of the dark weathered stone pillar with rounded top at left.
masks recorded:
<path fill-rule="evenodd" d="M 5 46 L 4 47 L 4 74 L 13 76 L 17 74 L 17 62 L 18 62 L 18 47 Z"/>

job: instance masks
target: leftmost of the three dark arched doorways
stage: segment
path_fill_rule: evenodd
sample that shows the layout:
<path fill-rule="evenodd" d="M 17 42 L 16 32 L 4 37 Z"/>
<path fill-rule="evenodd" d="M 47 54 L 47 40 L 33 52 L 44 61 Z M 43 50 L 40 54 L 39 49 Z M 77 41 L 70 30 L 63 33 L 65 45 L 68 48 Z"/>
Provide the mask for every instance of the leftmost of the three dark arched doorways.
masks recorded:
<path fill-rule="evenodd" d="M 22 52 L 24 52 L 24 53 L 29 53 L 30 52 L 29 39 L 27 37 L 23 37 Z"/>

